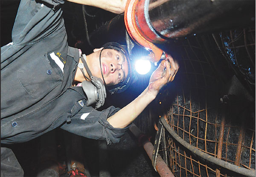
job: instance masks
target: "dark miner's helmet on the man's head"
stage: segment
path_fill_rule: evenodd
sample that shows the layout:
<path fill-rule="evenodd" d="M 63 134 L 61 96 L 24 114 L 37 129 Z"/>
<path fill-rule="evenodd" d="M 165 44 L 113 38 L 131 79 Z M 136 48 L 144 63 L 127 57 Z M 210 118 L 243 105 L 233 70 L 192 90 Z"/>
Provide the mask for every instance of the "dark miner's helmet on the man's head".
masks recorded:
<path fill-rule="evenodd" d="M 107 86 L 105 83 L 104 77 L 103 77 L 103 73 L 101 71 L 102 78 L 103 78 L 103 81 L 104 81 L 104 84 L 105 84 L 107 90 L 111 94 L 121 93 L 121 92 L 125 91 L 135 81 L 135 78 L 136 78 L 134 75 L 134 72 L 133 72 L 133 67 L 131 65 L 131 58 L 128 54 L 127 47 L 125 45 L 121 45 L 116 42 L 108 42 L 108 43 L 104 44 L 102 47 L 103 47 L 103 49 L 100 52 L 99 58 L 101 57 L 101 53 L 104 49 L 114 49 L 114 50 L 120 52 L 128 61 L 128 68 L 129 68 L 128 74 L 122 82 L 119 82 L 116 85 Z"/>

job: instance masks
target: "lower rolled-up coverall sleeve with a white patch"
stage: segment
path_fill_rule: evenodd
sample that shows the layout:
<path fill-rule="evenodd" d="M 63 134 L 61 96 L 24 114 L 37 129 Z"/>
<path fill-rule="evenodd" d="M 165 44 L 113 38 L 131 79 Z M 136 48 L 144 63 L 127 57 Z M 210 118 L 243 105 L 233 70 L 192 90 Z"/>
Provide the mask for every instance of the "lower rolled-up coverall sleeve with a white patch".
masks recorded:
<path fill-rule="evenodd" d="M 113 128 L 107 121 L 108 117 L 116 113 L 120 108 L 113 106 L 103 111 L 95 110 L 93 107 L 84 106 L 79 113 L 71 118 L 71 123 L 61 126 L 62 129 L 84 136 L 90 139 L 106 139 L 108 144 L 119 142 L 121 136 L 127 131 L 125 128 Z"/>

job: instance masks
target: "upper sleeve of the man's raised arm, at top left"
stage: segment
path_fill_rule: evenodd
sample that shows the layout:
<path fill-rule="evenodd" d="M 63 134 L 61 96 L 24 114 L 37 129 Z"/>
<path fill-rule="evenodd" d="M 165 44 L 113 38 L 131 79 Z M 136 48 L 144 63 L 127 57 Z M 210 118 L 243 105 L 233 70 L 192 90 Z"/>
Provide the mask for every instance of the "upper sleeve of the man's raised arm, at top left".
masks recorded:
<path fill-rule="evenodd" d="M 64 26 L 60 5 L 64 0 L 21 0 L 12 29 L 13 45 L 28 45 Z"/>

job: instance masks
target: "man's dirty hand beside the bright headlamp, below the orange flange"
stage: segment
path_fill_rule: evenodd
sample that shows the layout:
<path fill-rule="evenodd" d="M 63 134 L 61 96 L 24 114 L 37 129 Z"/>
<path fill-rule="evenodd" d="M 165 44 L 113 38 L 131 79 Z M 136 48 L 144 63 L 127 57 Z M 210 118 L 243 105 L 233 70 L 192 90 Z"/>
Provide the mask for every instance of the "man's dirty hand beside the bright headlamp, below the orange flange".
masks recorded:
<path fill-rule="evenodd" d="M 161 61 L 159 67 L 157 67 L 150 77 L 148 91 L 154 94 L 154 96 L 157 96 L 157 93 L 165 84 L 173 81 L 177 71 L 179 70 L 179 64 L 171 55 L 167 55 L 167 59 L 168 60 Z"/>

